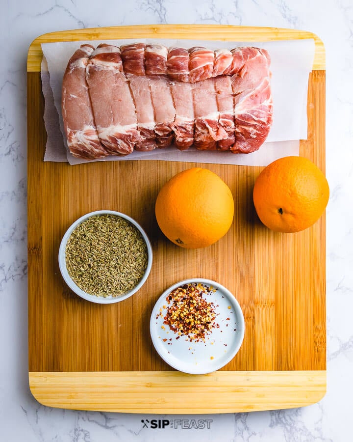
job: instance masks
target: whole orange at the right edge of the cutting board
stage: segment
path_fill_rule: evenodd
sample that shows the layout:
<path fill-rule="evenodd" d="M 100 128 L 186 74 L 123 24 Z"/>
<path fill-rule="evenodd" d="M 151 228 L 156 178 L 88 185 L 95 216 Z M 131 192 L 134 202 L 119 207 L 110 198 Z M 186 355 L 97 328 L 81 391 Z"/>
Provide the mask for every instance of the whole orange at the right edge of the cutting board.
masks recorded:
<path fill-rule="evenodd" d="M 253 202 L 260 220 L 277 232 L 299 232 L 323 214 L 329 196 L 322 171 L 303 157 L 284 157 L 255 181 Z"/>

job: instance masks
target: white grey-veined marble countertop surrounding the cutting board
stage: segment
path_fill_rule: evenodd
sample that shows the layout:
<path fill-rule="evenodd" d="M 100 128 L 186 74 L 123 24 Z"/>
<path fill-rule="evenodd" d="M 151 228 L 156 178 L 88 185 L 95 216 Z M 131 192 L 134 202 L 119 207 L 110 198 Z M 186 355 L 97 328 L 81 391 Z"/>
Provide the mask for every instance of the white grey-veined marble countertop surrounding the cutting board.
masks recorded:
<path fill-rule="evenodd" d="M 204 429 L 143 428 L 164 416 L 50 409 L 27 380 L 27 49 L 45 32 L 155 23 L 298 28 L 327 52 L 328 391 L 287 411 L 207 415 Z M 350 441 L 353 395 L 353 2 L 352 0 L 1 1 L 0 29 L 0 440 L 4 442 Z M 289 104 L 290 105 L 290 104 Z M 166 418 L 175 416 L 166 416 Z M 202 416 L 178 416 L 180 419 Z M 189 424 L 190 425 L 190 424 Z M 207 428 L 210 427 L 210 428 Z"/>

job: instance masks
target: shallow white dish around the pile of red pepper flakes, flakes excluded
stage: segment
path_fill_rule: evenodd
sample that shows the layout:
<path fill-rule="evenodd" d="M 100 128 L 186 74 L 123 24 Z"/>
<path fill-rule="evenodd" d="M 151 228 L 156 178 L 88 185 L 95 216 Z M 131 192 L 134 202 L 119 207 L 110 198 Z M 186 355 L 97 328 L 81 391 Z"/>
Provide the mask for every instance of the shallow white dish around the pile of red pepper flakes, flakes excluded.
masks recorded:
<path fill-rule="evenodd" d="M 167 296 L 183 284 L 201 283 L 215 291 L 203 295 L 214 304 L 215 323 L 205 340 L 195 342 L 164 324 L 169 301 Z M 244 339 L 245 322 L 235 297 L 223 285 L 210 279 L 185 279 L 169 287 L 153 307 L 150 321 L 151 339 L 159 356 L 176 370 L 189 374 L 206 374 L 224 367 L 239 351 Z"/>

